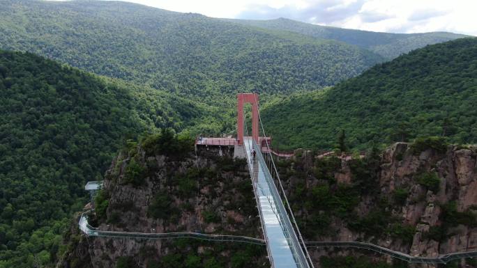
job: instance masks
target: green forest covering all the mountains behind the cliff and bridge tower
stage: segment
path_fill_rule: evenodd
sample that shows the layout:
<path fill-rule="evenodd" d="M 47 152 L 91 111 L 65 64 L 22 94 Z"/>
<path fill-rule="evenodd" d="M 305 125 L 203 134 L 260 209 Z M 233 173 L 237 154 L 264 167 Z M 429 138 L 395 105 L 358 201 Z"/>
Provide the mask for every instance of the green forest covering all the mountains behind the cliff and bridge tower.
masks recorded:
<path fill-rule="evenodd" d="M 279 149 L 476 143 L 476 38 L 383 63 L 460 37 L 1 1 L 0 268 L 51 266 L 87 203 L 84 184 L 101 180 L 128 141 L 166 128 L 233 133 L 239 92 L 260 93 Z"/>

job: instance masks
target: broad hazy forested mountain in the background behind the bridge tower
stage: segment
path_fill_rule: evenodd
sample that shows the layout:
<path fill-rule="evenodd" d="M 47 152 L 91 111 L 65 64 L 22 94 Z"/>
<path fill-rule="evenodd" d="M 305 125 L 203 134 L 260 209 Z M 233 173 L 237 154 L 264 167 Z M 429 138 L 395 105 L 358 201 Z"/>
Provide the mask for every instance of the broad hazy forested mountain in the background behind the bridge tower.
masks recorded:
<path fill-rule="evenodd" d="M 334 40 L 115 1 L 2 1 L 0 48 L 206 102 L 313 90 L 383 61 Z"/>

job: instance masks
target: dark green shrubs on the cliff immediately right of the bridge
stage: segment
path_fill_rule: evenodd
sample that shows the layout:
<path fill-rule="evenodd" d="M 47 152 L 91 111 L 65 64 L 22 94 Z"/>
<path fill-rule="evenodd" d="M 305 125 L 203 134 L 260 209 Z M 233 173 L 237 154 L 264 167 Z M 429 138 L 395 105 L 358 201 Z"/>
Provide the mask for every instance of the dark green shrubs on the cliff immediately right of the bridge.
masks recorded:
<path fill-rule="evenodd" d="M 379 155 L 372 152 L 364 159 L 349 160 L 351 183 L 338 182 L 335 173 L 341 168 L 338 157 L 316 158 L 312 166 L 308 158 L 279 161 L 280 178 L 287 184 L 287 196 L 292 210 L 299 212 L 298 227 L 310 241 L 332 236 L 334 219 L 346 223 L 349 230 L 363 233 L 365 237 L 390 236 L 411 244 L 415 233 L 413 226 L 402 224 L 394 216 L 393 207 L 402 205 L 379 194 Z M 298 179 L 298 180 L 297 180 Z M 305 183 L 308 180 L 308 183 Z M 407 191 L 400 198 L 407 198 Z M 356 207 L 366 198 L 372 199 L 370 212 L 357 214 Z"/>

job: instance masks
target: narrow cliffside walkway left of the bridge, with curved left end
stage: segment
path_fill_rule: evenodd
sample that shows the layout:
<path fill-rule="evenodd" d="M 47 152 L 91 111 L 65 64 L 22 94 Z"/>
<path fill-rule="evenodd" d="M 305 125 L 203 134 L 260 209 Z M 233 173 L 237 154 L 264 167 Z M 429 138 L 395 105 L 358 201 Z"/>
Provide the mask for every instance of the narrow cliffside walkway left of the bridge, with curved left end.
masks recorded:
<path fill-rule="evenodd" d="M 265 245 L 264 239 L 255 237 L 245 237 L 241 235 L 208 235 L 200 232 L 120 232 L 120 231 L 103 231 L 99 228 L 93 228 L 89 225 L 88 219 L 81 215 L 79 219 L 79 229 L 86 235 L 92 237 L 119 237 L 119 238 L 135 238 L 135 239 L 176 239 L 176 238 L 193 238 L 218 242 L 243 242 L 248 244 Z"/>

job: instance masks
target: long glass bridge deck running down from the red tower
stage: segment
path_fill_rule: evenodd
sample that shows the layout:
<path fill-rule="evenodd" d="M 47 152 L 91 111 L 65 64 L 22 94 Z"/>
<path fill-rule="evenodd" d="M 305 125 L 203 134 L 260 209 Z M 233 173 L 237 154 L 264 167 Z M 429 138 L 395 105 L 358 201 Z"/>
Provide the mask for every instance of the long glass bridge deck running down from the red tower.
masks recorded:
<path fill-rule="evenodd" d="M 309 268 L 305 253 L 298 243 L 292 223 L 257 143 L 250 137 L 244 137 L 243 145 L 257 197 L 271 266 L 273 268 Z M 252 150 L 255 150 L 255 159 L 252 157 Z"/>

